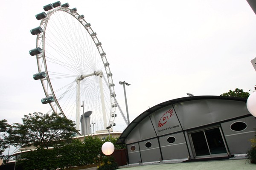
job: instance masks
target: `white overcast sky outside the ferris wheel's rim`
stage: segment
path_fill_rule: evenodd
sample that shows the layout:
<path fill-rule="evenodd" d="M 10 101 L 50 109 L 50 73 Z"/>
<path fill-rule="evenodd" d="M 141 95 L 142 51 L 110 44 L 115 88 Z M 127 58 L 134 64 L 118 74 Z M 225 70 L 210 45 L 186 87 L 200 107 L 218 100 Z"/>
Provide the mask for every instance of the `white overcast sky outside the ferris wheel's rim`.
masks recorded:
<path fill-rule="evenodd" d="M 21 122 L 24 114 L 46 113 L 37 73 L 36 36 L 30 34 L 50 0 L 2 0 L 0 10 L 0 119 Z M 61 1 L 61 3 L 67 3 Z M 102 42 L 117 100 L 130 121 L 148 107 L 186 93 L 220 94 L 256 85 L 256 15 L 246 0 L 72 0 Z M 250 91 L 251 93 L 252 91 Z M 118 115 L 123 130 L 126 125 Z"/>

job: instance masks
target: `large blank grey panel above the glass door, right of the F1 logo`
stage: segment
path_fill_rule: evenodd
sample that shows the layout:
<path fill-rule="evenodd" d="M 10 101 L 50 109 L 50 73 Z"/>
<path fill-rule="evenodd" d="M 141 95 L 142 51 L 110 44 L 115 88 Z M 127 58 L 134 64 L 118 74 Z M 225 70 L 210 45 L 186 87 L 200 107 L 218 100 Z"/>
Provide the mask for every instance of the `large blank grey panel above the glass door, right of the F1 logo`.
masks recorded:
<path fill-rule="evenodd" d="M 184 130 L 249 114 L 245 102 L 233 100 L 192 100 L 174 108 Z"/>

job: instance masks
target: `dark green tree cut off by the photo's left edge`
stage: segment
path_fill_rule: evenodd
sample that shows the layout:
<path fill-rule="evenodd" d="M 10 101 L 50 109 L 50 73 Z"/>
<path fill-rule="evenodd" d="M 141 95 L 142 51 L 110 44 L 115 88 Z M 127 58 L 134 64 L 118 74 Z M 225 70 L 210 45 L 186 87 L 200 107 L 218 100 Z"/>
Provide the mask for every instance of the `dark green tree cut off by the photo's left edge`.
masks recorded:
<path fill-rule="evenodd" d="M 6 131 L 9 125 L 7 124 L 7 120 L 0 120 L 0 157 L 2 158 L 2 154 L 4 150 L 8 147 L 8 143 L 6 142 Z"/>

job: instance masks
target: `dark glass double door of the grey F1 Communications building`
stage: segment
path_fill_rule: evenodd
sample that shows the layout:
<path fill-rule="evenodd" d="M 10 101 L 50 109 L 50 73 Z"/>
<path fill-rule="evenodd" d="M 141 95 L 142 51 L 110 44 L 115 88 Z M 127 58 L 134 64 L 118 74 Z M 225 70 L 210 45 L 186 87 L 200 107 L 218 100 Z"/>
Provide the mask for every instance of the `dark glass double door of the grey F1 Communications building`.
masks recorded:
<path fill-rule="evenodd" d="M 190 133 L 196 157 L 228 156 L 219 127 Z"/>

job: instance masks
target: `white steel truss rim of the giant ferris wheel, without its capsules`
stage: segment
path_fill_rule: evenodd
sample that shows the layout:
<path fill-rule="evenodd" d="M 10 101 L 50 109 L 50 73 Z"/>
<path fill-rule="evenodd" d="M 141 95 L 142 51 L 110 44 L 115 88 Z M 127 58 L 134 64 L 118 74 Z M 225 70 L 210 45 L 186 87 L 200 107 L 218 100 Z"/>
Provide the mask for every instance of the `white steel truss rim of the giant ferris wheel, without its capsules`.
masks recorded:
<path fill-rule="evenodd" d="M 41 23 L 40 23 L 40 27 L 43 28 L 43 32 L 42 34 L 38 34 L 37 35 L 37 40 L 36 40 L 36 47 L 42 47 L 42 54 L 39 54 L 37 55 L 37 64 L 38 64 L 38 72 L 41 72 L 42 71 L 42 67 L 44 66 L 44 70 L 46 71 L 46 74 L 47 74 L 47 77 L 45 79 L 41 79 L 41 84 L 43 86 L 43 89 L 44 89 L 44 93 L 46 95 L 46 97 L 48 96 L 53 96 L 55 101 L 55 105 L 56 107 L 58 107 L 58 109 L 61 111 L 61 114 L 63 116 L 66 117 L 64 111 L 62 111 L 62 108 L 61 108 L 61 105 L 59 104 L 58 102 L 58 99 L 57 97 L 55 96 L 55 92 L 53 91 L 53 88 L 52 88 L 52 83 L 51 83 L 51 80 L 49 79 L 49 74 L 48 74 L 48 69 L 47 69 L 47 61 L 45 59 L 45 31 L 46 31 L 46 28 L 47 28 L 47 24 L 48 24 L 48 20 L 49 18 L 52 16 L 52 14 L 54 14 L 56 11 L 63 11 L 63 12 L 66 12 L 67 14 L 70 14 L 71 16 L 73 16 L 73 18 L 75 18 L 76 20 L 78 20 L 82 26 L 84 26 L 84 29 L 87 30 L 88 34 L 90 34 L 89 30 L 92 31 L 92 33 L 94 33 L 94 31 L 92 30 L 92 28 L 90 27 L 89 23 L 87 23 L 83 17 L 81 17 L 81 15 L 79 15 L 76 11 L 73 11 L 72 9 L 70 8 L 65 8 L 65 7 L 59 7 L 59 8 L 55 8 L 51 11 L 48 11 L 47 13 L 47 17 L 42 19 L 41 20 Z M 87 25 L 87 26 L 85 26 Z M 88 28 L 88 29 L 87 29 Z M 108 60 L 105 56 L 105 52 L 103 51 L 103 48 L 102 48 L 102 45 L 101 45 L 101 42 L 99 42 L 96 34 L 95 35 L 91 35 L 91 38 L 93 40 L 93 42 L 95 43 L 96 45 L 96 48 L 98 49 L 98 52 L 102 58 L 102 62 L 103 62 L 103 65 L 104 65 L 104 68 L 105 68 L 105 73 L 108 74 L 108 88 L 109 88 L 109 91 L 110 91 L 110 99 L 111 99 L 111 106 L 112 104 L 115 104 L 115 91 L 114 91 L 114 88 L 113 86 L 113 79 L 112 79 L 112 74 L 111 74 L 111 71 L 110 71 L 110 67 L 109 67 L 109 63 L 108 63 Z M 40 63 L 39 59 L 42 58 L 42 63 Z M 48 85 L 49 85 L 49 88 L 50 88 L 50 91 L 51 91 L 51 94 L 48 93 L 48 89 L 47 87 L 45 86 L 44 84 L 44 81 L 47 81 Z M 113 96 L 112 96 L 113 94 Z M 55 113 L 57 113 L 57 109 L 55 109 L 53 103 L 49 103 L 51 108 L 52 108 L 52 111 L 54 111 Z M 108 127 L 111 126 L 113 127 L 114 125 L 114 119 L 115 119 L 115 116 L 111 116 L 112 114 L 115 114 L 116 112 L 116 105 L 114 105 L 114 107 L 111 107 L 110 106 L 110 113 L 109 113 L 109 121 L 108 121 Z M 112 119 L 113 118 L 113 119 Z"/>

